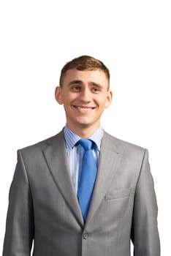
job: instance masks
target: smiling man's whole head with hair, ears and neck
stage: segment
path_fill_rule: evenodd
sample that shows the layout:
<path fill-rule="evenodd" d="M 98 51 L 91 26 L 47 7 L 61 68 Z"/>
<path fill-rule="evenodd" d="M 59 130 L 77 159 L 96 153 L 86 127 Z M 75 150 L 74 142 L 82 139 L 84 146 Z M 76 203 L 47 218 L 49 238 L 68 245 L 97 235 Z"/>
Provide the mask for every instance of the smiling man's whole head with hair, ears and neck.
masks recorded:
<path fill-rule="evenodd" d="M 100 124 L 112 101 L 110 72 L 102 61 L 80 56 L 61 69 L 56 100 L 64 105 L 66 124 L 82 138 L 88 138 Z"/>

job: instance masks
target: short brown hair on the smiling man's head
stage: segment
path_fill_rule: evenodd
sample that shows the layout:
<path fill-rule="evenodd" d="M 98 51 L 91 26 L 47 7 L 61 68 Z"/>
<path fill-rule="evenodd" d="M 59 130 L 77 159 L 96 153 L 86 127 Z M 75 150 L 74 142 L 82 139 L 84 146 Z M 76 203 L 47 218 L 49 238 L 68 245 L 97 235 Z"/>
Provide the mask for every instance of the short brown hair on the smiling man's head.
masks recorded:
<path fill-rule="evenodd" d="M 99 61 L 98 59 L 95 59 L 91 56 L 83 55 L 83 56 L 77 57 L 75 59 L 72 59 L 72 61 L 67 62 L 64 65 L 64 67 L 61 69 L 61 75 L 59 78 L 60 86 L 62 86 L 64 75 L 66 74 L 66 71 L 69 69 L 77 69 L 77 70 L 100 69 L 105 73 L 105 75 L 107 76 L 107 79 L 110 81 L 109 69 L 107 69 L 107 67 L 103 64 L 102 61 Z"/>

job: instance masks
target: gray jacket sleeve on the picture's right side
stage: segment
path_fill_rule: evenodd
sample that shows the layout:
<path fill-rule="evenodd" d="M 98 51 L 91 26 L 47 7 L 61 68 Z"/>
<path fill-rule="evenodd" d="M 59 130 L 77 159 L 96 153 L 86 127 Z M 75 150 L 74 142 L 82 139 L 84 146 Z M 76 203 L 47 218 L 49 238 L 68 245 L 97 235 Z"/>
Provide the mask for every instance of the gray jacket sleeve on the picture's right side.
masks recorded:
<path fill-rule="evenodd" d="M 157 214 L 158 207 L 148 162 L 148 151 L 145 150 L 134 196 L 132 219 L 134 256 L 160 255 Z"/>

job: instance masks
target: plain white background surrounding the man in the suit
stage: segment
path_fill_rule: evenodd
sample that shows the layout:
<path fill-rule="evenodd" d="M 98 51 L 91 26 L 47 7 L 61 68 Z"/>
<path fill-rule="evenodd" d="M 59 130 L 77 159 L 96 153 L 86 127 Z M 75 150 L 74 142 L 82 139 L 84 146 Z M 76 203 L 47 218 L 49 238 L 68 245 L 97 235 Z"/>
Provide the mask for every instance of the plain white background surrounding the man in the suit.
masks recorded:
<path fill-rule="evenodd" d="M 161 255 L 170 255 L 170 13 L 166 0 L 0 2 L 0 252 L 16 151 L 64 127 L 54 99 L 61 67 L 88 54 L 111 73 L 102 126 L 148 148 Z"/>

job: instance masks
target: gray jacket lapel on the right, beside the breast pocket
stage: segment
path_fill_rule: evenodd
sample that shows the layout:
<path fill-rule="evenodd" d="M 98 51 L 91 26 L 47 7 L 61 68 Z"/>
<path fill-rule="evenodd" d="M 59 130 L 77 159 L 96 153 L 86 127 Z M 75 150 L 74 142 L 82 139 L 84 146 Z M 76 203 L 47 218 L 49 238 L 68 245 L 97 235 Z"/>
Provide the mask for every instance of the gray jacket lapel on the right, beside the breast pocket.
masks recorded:
<path fill-rule="evenodd" d="M 116 138 L 104 132 L 102 146 L 99 157 L 99 168 L 94 187 L 94 194 L 91 200 L 91 206 L 88 212 L 88 223 L 94 216 L 99 204 L 101 203 L 107 189 L 110 187 L 110 181 L 115 176 L 118 163 L 120 162 L 123 148 Z"/>

